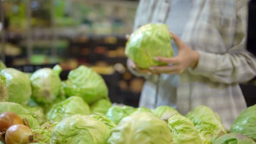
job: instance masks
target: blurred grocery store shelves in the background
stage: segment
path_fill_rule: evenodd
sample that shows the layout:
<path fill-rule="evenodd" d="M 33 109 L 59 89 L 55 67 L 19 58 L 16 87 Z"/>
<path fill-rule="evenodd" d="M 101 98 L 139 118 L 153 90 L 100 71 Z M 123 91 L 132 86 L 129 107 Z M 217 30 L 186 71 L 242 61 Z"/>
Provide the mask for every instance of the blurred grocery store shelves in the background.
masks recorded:
<path fill-rule="evenodd" d="M 125 35 L 139 0 L 1 0 L 0 50 L 7 65 L 35 72 L 59 64 L 62 80 L 79 65 L 104 78 L 113 103 L 138 107 L 144 79 L 128 71 Z M 241 84 L 256 104 L 256 81 Z"/>

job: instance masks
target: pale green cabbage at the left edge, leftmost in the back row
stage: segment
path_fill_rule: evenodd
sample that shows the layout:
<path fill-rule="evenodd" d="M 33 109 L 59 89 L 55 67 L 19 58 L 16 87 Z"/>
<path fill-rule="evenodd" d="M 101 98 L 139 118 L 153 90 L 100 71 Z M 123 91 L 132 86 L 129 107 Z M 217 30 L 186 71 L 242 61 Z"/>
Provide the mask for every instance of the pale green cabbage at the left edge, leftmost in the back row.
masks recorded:
<path fill-rule="evenodd" d="M 9 101 L 27 105 L 32 94 L 29 76 L 13 68 L 3 69 L 0 75 L 6 78 Z"/>

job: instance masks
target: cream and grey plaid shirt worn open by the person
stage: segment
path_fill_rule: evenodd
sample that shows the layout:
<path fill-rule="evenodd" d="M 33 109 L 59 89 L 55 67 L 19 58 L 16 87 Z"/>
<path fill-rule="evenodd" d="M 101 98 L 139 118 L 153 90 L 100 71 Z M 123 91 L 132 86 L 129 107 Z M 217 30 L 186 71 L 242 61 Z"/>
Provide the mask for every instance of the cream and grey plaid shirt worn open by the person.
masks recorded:
<path fill-rule="evenodd" d="M 168 95 L 170 79 L 160 77 L 158 106 L 174 98 L 177 110 L 187 114 L 198 105 L 207 105 L 222 118 L 230 129 L 235 118 L 246 108 L 246 101 L 239 83 L 256 75 L 256 58 L 246 51 L 248 0 L 195 0 L 190 19 L 181 37 L 200 54 L 195 69 L 187 69 L 180 75 L 176 96 Z M 141 0 L 135 27 L 146 23 L 165 23 L 170 0 Z M 131 70 L 131 69 L 130 69 Z M 156 75 L 141 75 L 147 82 L 141 92 L 140 106 L 154 107 Z M 172 101 L 173 102 L 173 101 Z"/>

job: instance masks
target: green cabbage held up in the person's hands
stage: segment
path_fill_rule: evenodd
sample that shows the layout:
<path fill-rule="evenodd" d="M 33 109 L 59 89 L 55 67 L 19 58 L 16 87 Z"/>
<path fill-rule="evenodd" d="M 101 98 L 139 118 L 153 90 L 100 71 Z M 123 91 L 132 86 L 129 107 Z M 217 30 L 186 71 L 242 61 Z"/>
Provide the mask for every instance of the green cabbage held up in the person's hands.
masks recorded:
<path fill-rule="evenodd" d="M 146 24 L 131 34 L 126 43 L 125 55 L 141 69 L 148 69 L 154 65 L 166 65 L 166 63 L 155 61 L 154 57 L 174 56 L 171 39 L 167 25 Z"/>

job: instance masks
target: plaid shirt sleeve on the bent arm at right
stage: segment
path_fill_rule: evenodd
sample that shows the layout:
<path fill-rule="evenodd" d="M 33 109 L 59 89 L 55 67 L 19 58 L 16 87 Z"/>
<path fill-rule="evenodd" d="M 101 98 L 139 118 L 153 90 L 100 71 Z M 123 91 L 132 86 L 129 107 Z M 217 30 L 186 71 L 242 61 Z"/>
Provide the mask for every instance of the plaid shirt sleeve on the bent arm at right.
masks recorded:
<path fill-rule="evenodd" d="M 198 51 L 197 67 L 189 69 L 192 74 L 226 84 L 247 82 L 256 75 L 256 57 L 246 50 L 247 15 L 247 3 L 237 6 L 234 46 L 224 54 Z"/>

